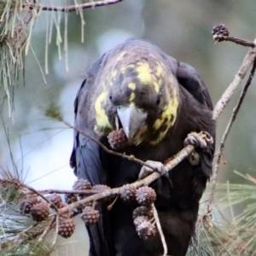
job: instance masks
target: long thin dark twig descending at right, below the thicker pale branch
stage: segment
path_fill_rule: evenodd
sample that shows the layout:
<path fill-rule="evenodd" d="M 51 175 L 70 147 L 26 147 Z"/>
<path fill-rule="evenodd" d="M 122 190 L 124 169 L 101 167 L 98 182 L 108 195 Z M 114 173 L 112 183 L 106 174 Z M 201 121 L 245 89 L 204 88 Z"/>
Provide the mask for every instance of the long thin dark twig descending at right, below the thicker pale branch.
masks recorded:
<path fill-rule="evenodd" d="M 227 137 L 230 133 L 230 129 L 231 129 L 234 121 L 236 120 L 236 115 L 237 115 L 238 111 L 241 108 L 241 104 L 244 100 L 244 97 L 246 96 L 247 90 L 248 90 L 250 84 L 252 83 L 253 76 L 254 76 L 254 73 L 255 73 L 255 69 L 256 69 L 256 57 L 254 56 L 253 67 L 252 67 L 250 76 L 247 79 L 247 82 L 246 82 L 246 84 L 244 85 L 244 87 L 241 91 L 241 95 L 238 99 L 238 102 L 236 103 L 236 107 L 233 109 L 233 113 L 232 113 L 232 116 L 230 117 L 230 121 L 229 121 L 228 125 L 226 126 L 223 137 L 221 138 L 221 142 L 219 143 L 219 148 L 218 148 L 218 153 L 217 153 L 218 157 L 217 157 L 217 160 L 216 160 L 216 164 L 214 166 L 212 179 L 211 179 L 212 180 L 212 187 L 211 187 L 211 191 L 210 191 L 210 194 L 208 196 L 208 201 L 207 201 L 207 211 L 208 211 L 208 209 L 210 208 L 210 206 L 212 204 L 213 194 L 214 194 L 214 190 L 215 190 L 216 183 L 217 183 L 218 171 L 219 171 L 219 168 L 220 168 L 220 160 L 221 160 L 221 156 L 223 155 L 223 151 L 224 151 L 224 143 L 225 143 L 225 141 L 226 141 L 226 139 L 227 139 Z"/>

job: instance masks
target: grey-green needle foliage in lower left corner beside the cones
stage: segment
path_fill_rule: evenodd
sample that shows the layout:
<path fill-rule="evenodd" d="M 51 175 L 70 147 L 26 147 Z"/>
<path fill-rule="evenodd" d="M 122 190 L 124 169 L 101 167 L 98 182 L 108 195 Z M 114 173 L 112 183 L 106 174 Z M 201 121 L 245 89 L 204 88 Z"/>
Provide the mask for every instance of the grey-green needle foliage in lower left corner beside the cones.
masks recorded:
<path fill-rule="evenodd" d="M 20 211 L 24 198 L 20 184 L 16 179 L 0 180 L 0 256 L 49 255 L 53 251 L 50 239 L 39 239 L 49 220 L 35 224 L 29 215 Z M 48 238 L 51 236 L 52 232 Z"/>

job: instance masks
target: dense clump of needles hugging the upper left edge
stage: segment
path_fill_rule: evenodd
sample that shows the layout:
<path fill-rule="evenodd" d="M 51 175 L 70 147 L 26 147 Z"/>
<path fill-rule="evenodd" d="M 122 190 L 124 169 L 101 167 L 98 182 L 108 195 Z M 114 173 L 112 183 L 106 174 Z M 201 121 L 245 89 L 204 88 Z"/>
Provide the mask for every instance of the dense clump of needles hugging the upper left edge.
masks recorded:
<path fill-rule="evenodd" d="M 14 85 L 24 68 L 24 49 L 32 21 L 32 9 L 23 8 L 22 0 L 0 1 L 0 101 L 7 99 L 9 113 L 13 108 Z"/>

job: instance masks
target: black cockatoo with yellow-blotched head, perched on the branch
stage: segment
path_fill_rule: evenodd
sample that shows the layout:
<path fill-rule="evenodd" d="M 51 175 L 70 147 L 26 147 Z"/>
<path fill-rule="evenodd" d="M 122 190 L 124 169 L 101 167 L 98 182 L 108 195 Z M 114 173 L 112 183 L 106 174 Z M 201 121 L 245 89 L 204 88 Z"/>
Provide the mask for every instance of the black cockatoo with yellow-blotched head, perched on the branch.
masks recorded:
<path fill-rule="evenodd" d="M 75 126 L 108 147 L 108 134 L 118 128 L 118 119 L 129 141 L 119 151 L 141 160 L 164 163 L 183 148 L 191 131 L 207 131 L 215 137 L 212 101 L 199 74 L 142 40 L 127 40 L 102 55 L 88 71 L 74 108 Z M 172 183 L 161 177 L 152 184 L 168 255 L 186 254 L 195 231 L 199 200 L 212 174 L 214 145 L 196 151 L 201 159 L 197 166 L 183 160 L 170 172 Z M 110 187 L 136 181 L 142 167 L 107 154 L 77 131 L 71 166 L 91 185 Z M 97 207 L 100 220 L 88 227 L 90 256 L 163 253 L 158 235 L 149 241 L 137 236 L 132 219 L 136 207 L 136 201 L 121 199 L 110 212 L 104 206 Z"/>

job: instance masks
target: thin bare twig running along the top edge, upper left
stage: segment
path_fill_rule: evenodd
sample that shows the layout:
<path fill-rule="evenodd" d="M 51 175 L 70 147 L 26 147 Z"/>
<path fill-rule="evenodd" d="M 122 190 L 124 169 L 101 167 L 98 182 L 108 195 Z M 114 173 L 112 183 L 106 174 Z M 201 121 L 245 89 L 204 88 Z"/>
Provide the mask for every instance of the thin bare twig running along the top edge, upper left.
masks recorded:
<path fill-rule="evenodd" d="M 41 5 L 41 4 L 31 4 L 31 3 L 23 3 L 22 8 L 28 8 L 28 9 L 42 9 L 47 11 L 59 11 L 59 12 L 73 12 L 78 11 L 79 9 L 90 9 L 95 8 L 98 6 L 105 6 L 110 5 L 114 3 L 122 2 L 123 0 L 106 0 L 106 1 L 96 1 L 96 2 L 90 2 L 90 3 L 82 3 L 82 4 L 75 4 L 75 5 L 68 5 L 66 7 L 63 6 L 47 6 L 47 5 Z"/>

